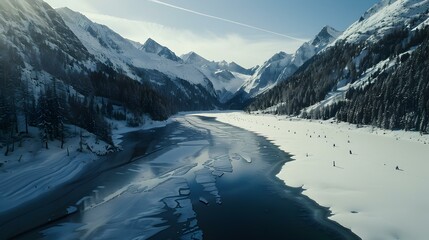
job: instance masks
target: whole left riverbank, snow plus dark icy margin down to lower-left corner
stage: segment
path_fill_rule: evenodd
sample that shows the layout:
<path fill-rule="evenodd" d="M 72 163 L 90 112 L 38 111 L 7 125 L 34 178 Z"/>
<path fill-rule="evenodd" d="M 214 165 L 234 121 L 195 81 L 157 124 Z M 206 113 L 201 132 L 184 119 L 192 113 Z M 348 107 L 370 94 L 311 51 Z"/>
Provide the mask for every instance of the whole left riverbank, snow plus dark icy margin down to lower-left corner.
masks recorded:
<path fill-rule="evenodd" d="M 115 146 L 122 148 L 122 136 L 128 132 L 162 127 L 168 123 L 147 121 L 140 128 L 126 128 L 122 126 L 125 123 L 116 122 L 117 129 L 113 131 Z M 76 207 L 50 206 L 46 202 L 68 198 L 67 191 L 73 189 L 72 183 L 115 165 L 114 160 L 106 161 L 102 157 L 115 151 L 112 146 L 82 130 L 83 148 L 80 149 L 81 130 L 74 126 L 67 128 L 71 136 L 63 148 L 60 147 L 61 142 L 51 141 L 49 149 L 45 149 L 38 140 L 38 129 L 31 127 L 28 136 L 16 144 L 13 152 L 0 156 L 0 232 L 3 235 L 13 236 L 18 231 L 75 212 Z M 132 154 L 130 151 L 117 153 L 123 161 L 132 158 Z"/>

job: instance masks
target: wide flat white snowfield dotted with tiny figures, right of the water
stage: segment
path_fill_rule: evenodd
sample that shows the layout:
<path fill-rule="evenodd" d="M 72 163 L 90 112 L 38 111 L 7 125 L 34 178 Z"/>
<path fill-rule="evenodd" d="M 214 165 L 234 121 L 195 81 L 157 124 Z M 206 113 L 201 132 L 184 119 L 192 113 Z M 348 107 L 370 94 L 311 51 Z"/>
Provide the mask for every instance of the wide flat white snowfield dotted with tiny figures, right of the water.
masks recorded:
<path fill-rule="evenodd" d="M 291 153 L 294 161 L 277 176 L 329 207 L 330 219 L 362 239 L 427 239 L 428 135 L 242 112 L 198 115 L 253 131 Z"/>

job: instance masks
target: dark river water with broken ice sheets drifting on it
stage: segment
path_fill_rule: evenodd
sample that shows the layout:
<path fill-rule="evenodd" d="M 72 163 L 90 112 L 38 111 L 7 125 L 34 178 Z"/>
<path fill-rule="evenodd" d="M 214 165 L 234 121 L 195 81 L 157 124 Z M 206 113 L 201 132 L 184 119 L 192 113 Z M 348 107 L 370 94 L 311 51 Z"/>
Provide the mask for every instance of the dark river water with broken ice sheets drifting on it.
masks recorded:
<path fill-rule="evenodd" d="M 278 180 L 290 157 L 253 133 L 186 117 L 124 144 L 41 208 L 74 213 L 18 238 L 359 239 Z"/>

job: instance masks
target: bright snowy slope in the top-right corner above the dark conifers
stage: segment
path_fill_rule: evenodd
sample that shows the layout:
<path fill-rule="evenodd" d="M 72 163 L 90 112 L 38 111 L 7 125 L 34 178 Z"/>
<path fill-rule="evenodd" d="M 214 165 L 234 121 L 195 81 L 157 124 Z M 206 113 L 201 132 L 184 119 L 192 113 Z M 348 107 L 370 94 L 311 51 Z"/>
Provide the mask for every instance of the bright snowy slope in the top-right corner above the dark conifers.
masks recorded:
<path fill-rule="evenodd" d="M 428 9 L 428 0 L 382 0 L 353 23 L 338 40 L 376 42 L 399 27 L 416 27 L 427 19 Z"/>

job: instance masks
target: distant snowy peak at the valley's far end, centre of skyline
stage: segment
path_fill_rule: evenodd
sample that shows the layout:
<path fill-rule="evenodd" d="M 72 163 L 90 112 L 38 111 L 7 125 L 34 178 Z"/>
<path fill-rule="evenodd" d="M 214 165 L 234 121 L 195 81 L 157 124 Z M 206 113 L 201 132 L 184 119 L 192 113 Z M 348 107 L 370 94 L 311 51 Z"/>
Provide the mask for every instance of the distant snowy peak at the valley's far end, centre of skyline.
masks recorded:
<path fill-rule="evenodd" d="M 181 56 L 184 63 L 195 66 L 213 83 L 219 100 L 227 102 L 253 73 L 235 62 L 209 61 L 195 52 Z"/>

